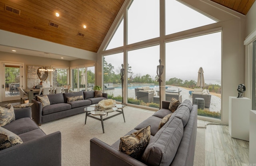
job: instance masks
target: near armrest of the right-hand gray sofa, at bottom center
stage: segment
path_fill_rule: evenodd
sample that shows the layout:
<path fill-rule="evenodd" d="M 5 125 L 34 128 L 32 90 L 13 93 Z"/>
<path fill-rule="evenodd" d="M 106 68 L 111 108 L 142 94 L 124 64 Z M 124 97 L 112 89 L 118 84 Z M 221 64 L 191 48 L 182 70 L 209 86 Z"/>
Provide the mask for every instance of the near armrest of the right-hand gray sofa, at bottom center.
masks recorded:
<path fill-rule="evenodd" d="M 100 157 L 99 157 L 100 156 Z M 146 166 L 97 138 L 90 140 L 90 166 Z"/>

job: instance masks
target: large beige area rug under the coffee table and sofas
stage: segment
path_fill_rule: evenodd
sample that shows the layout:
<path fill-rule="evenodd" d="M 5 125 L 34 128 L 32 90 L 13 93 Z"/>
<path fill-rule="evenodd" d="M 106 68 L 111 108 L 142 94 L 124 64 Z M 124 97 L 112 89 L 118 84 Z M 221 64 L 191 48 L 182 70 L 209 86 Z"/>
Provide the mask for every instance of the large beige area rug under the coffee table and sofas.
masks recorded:
<path fill-rule="evenodd" d="M 134 127 L 139 123 L 153 115 L 153 113 L 154 111 L 126 106 L 124 108 L 126 123 L 124 123 L 124 118 L 122 115 L 108 119 L 104 121 L 104 134 L 102 131 L 101 122 L 96 119 L 88 117 L 86 124 L 84 125 L 85 113 L 45 123 L 42 124 L 40 128 L 46 134 L 50 134 L 55 131 L 61 132 L 62 166 L 90 166 L 91 138 L 96 137 L 111 145 L 120 139 L 121 136 L 124 136 L 124 134 L 134 129 Z M 114 115 L 114 113 L 109 113 L 108 116 L 110 115 Z M 198 128 L 198 130 L 204 130 L 205 133 L 204 128 Z M 202 142 L 205 141 L 202 139 L 202 136 L 204 136 L 204 134 L 197 132 L 196 152 L 194 159 L 195 166 L 201 166 L 201 163 L 204 163 L 204 161 L 201 160 L 201 149 L 203 149 L 204 155 L 204 144 L 202 144 Z M 197 150 L 198 147 L 200 147 L 200 150 Z"/>

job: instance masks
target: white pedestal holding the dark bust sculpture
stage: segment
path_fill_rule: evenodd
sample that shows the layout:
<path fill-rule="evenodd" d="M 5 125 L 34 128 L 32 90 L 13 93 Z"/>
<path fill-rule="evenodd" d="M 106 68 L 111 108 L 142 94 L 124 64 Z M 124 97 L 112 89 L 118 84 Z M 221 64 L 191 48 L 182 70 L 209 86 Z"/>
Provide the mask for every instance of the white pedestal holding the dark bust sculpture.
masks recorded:
<path fill-rule="evenodd" d="M 251 99 L 229 97 L 228 131 L 232 138 L 249 141 Z"/>

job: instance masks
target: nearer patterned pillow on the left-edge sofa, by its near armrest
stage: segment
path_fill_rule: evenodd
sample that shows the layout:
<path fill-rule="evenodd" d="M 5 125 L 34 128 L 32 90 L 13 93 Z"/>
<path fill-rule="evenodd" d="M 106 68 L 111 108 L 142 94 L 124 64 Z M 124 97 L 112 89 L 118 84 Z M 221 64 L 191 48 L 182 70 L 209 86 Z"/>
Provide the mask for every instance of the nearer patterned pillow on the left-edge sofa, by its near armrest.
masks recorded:
<path fill-rule="evenodd" d="M 0 150 L 22 143 L 23 142 L 18 135 L 0 127 Z"/>

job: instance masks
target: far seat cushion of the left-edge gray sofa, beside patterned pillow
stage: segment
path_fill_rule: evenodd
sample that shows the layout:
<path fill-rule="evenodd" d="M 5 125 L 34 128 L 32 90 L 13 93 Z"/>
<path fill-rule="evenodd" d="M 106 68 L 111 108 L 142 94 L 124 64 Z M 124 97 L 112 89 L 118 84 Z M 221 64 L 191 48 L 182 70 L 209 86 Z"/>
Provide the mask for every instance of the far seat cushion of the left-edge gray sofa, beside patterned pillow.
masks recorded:
<path fill-rule="evenodd" d="M 12 121 L 12 123 L 3 126 L 3 128 L 6 128 L 7 130 L 13 132 L 14 134 L 19 135 L 25 132 L 36 130 L 39 127 L 36 125 L 34 121 L 32 121 L 32 119 L 27 117 L 16 119 L 15 121 Z"/>

